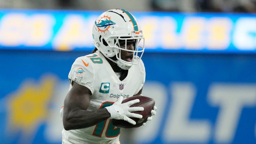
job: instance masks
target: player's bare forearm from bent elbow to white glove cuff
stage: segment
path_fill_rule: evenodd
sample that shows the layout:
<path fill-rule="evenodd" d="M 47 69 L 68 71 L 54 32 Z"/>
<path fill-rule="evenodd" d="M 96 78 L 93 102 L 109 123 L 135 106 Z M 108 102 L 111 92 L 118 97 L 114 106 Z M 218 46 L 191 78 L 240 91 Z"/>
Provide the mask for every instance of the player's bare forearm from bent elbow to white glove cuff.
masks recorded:
<path fill-rule="evenodd" d="M 82 129 L 96 125 L 110 117 L 107 109 L 96 111 L 75 110 L 63 115 L 63 126 L 65 130 Z"/>

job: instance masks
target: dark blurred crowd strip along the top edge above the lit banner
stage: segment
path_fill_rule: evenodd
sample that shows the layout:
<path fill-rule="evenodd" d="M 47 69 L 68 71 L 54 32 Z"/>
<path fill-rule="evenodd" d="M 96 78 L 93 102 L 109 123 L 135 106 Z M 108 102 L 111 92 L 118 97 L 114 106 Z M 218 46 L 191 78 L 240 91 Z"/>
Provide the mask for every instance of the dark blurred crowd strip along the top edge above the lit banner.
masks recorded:
<path fill-rule="evenodd" d="M 256 13 L 256 0 L 0 0 L 0 8 Z"/>

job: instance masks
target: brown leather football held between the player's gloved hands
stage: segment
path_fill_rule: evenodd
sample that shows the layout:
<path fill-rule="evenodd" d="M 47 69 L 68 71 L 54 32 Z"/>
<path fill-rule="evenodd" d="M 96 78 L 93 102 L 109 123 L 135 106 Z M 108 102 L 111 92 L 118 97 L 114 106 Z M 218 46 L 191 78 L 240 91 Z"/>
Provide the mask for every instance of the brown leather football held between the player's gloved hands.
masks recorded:
<path fill-rule="evenodd" d="M 111 122 L 114 126 L 120 127 L 120 128 L 140 127 L 140 126 L 142 126 L 142 124 L 144 122 L 147 121 L 147 118 L 149 116 L 151 116 L 151 110 L 153 109 L 153 107 L 155 105 L 155 101 L 152 98 L 149 98 L 149 97 L 146 97 L 146 96 L 132 96 L 132 97 L 128 97 L 128 98 L 124 99 L 122 101 L 122 103 L 131 101 L 131 100 L 135 100 L 135 99 L 139 99 L 140 102 L 138 102 L 136 104 L 133 104 L 130 107 L 143 107 L 144 108 L 143 111 L 133 112 L 133 113 L 136 113 L 136 114 L 141 114 L 142 118 L 139 119 L 139 118 L 130 117 L 132 120 L 134 120 L 136 122 L 135 125 L 133 125 L 133 124 L 127 122 L 127 121 L 124 121 L 124 120 L 112 119 Z"/>

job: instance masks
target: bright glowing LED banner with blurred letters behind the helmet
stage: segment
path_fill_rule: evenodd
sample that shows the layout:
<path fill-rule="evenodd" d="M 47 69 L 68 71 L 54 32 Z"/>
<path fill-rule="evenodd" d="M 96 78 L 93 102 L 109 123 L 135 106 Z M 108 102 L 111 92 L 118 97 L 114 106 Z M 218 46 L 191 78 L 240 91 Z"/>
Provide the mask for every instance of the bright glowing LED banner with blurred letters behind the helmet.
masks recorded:
<path fill-rule="evenodd" d="M 0 10 L 0 49 L 90 50 L 102 11 Z M 255 53 L 256 15 L 132 12 L 147 52 Z"/>

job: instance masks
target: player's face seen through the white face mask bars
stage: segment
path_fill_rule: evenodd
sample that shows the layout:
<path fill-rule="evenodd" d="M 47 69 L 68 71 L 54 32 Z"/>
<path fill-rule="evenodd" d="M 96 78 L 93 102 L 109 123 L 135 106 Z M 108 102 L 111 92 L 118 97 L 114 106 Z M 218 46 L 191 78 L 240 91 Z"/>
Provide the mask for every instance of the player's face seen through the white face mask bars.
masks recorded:
<path fill-rule="evenodd" d="M 134 50 L 135 43 L 136 43 L 135 40 L 127 40 L 126 49 Z M 125 40 L 119 40 L 119 44 L 120 44 L 121 48 L 125 49 Z M 128 61 L 128 62 L 131 62 L 133 60 L 133 52 L 128 52 L 128 51 L 121 50 L 121 59 L 125 60 L 125 61 Z"/>

